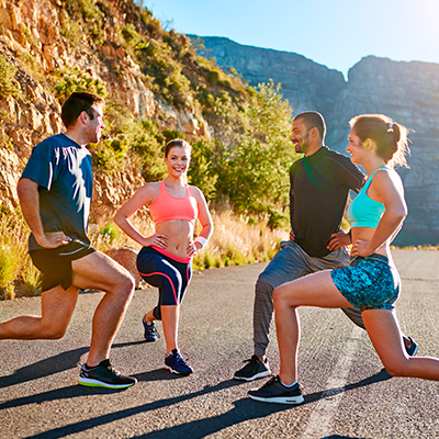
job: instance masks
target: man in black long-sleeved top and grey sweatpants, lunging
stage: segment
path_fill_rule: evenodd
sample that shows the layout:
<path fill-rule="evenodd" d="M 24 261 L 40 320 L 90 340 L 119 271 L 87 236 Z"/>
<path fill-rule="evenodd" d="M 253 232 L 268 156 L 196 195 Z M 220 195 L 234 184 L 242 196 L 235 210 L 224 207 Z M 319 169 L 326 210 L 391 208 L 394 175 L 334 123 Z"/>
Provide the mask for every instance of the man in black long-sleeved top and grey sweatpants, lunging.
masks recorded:
<path fill-rule="evenodd" d="M 326 124 L 322 114 L 307 111 L 294 117 L 291 142 L 304 157 L 290 170 L 290 240 L 259 275 L 255 291 L 254 352 L 235 380 L 252 381 L 271 371 L 266 357 L 273 316 L 275 286 L 320 270 L 349 266 L 350 235 L 341 230 L 349 190 L 358 192 L 363 173 L 348 157 L 325 146 Z M 350 305 L 342 309 L 364 329 L 361 312 Z M 407 353 L 417 345 L 404 337 Z"/>

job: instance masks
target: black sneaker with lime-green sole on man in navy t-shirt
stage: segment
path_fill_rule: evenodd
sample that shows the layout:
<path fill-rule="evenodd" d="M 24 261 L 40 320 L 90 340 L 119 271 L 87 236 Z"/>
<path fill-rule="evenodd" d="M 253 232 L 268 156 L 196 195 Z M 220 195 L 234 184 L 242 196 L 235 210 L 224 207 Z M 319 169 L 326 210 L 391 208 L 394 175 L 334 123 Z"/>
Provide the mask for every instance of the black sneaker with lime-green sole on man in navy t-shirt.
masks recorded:
<path fill-rule="evenodd" d="M 80 385 L 106 389 L 126 389 L 136 383 L 135 378 L 122 375 L 121 372 L 115 370 L 109 359 L 101 361 L 94 368 L 82 364 L 78 380 Z"/>

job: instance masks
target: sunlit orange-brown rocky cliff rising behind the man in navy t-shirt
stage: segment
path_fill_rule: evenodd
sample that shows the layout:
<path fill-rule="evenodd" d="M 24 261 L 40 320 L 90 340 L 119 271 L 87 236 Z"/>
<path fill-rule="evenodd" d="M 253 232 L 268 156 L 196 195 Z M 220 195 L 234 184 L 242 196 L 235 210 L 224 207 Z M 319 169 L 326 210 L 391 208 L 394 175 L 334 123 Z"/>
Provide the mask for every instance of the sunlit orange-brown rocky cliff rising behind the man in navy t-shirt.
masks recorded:
<path fill-rule="evenodd" d="M 81 20 L 75 21 L 75 14 Z M 202 116 L 156 95 L 122 44 L 121 30 L 134 29 L 133 23 L 151 33 L 162 32 L 151 16 L 147 27 L 137 15 L 133 1 L 0 0 L 0 55 L 16 69 L 19 90 L 3 95 L 0 88 L 1 210 L 18 206 L 16 183 L 32 147 L 64 130 L 54 81 L 69 69 L 104 83 L 112 101 L 138 120 L 154 120 L 160 128 L 189 138 L 200 131 Z M 138 168 L 95 172 L 92 221 L 111 217 L 121 201 L 144 183 Z"/>

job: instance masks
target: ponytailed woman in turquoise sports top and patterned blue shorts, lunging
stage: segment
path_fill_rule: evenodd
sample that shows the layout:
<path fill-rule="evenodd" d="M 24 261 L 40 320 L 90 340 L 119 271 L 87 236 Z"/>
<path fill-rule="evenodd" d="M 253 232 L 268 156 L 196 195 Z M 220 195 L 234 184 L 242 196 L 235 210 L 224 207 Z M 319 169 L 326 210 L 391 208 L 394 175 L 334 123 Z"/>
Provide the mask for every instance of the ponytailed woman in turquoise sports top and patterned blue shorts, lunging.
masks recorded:
<path fill-rule="evenodd" d="M 407 128 L 382 114 L 353 117 L 350 126 L 347 151 L 369 176 L 348 210 L 351 266 L 309 274 L 273 291 L 281 367 L 279 376 L 249 392 L 254 399 L 299 401 L 300 306 L 360 308 L 369 337 L 390 374 L 439 381 L 439 359 L 406 353 L 393 305 L 401 280 L 390 246 L 407 215 L 403 183 L 394 166 L 407 167 Z"/>

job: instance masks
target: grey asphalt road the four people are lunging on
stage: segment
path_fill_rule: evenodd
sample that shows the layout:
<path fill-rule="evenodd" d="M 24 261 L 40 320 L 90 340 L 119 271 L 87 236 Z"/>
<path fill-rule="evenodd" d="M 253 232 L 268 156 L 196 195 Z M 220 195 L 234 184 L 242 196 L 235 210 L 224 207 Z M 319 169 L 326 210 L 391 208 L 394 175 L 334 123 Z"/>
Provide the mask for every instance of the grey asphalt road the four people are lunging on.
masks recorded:
<path fill-rule="evenodd" d="M 439 357 L 439 251 L 395 251 L 396 309 L 418 356 Z M 165 342 L 142 341 L 157 290 L 136 291 L 111 358 L 138 384 L 116 392 L 77 385 L 101 293 L 81 294 L 66 336 L 0 341 L 0 438 L 439 438 L 439 383 L 391 378 L 367 334 L 339 309 L 302 308 L 297 407 L 247 397 L 232 376 L 251 356 L 255 281 L 266 264 L 195 273 L 182 306 L 180 348 L 194 373 L 164 369 Z M 0 319 L 38 314 L 38 297 L 0 303 Z M 158 325 L 161 333 L 161 325 Z M 269 349 L 279 369 L 274 328 Z"/>

